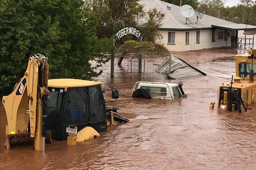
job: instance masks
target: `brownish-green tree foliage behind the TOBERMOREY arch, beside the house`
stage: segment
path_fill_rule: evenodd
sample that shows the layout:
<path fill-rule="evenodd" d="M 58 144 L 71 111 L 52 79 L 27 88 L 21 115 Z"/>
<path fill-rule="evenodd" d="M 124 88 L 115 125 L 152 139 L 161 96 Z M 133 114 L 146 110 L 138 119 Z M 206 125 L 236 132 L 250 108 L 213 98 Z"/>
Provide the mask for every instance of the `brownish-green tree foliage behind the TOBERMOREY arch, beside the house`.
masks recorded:
<path fill-rule="evenodd" d="M 155 38 L 160 36 L 157 30 L 161 26 L 164 14 L 156 9 L 144 11 L 139 0 L 87 0 L 87 2 L 100 18 L 97 27 L 98 37 L 110 38 L 125 27 L 138 28 L 145 41 L 155 42 Z M 126 35 L 117 43 L 121 45 L 129 39 L 136 38 L 133 35 Z"/>

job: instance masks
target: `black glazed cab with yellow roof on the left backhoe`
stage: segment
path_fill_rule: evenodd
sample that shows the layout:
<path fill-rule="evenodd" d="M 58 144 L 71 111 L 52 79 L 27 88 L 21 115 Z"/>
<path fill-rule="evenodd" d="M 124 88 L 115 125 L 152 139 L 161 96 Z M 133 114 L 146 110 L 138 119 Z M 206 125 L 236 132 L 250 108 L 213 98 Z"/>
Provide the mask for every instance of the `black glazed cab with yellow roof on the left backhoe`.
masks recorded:
<path fill-rule="evenodd" d="M 91 126 L 103 132 L 108 125 L 129 121 L 125 118 L 121 121 L 115 114 L 113 119 L 107 115 L 102 84 L 80 79 L 49 79 L 46 127 L 51 130 L 52 139 L 67 139 L 69 125 L 77 126 L 78 131 Z M 112 98 L 119 98 L 116 89 L 112 90 Z"/>

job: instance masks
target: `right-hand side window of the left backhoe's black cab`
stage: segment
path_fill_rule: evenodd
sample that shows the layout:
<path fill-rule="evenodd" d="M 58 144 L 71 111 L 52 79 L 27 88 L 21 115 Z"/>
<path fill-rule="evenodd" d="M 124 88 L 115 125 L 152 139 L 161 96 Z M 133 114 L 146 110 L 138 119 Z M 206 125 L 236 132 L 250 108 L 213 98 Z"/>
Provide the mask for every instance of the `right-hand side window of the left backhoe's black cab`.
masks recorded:
<path fill-rule="evenodd" d="M 89 87 L 89 96 L 92 123 L 106 120 L 106 106 L 101 87 Z"/>

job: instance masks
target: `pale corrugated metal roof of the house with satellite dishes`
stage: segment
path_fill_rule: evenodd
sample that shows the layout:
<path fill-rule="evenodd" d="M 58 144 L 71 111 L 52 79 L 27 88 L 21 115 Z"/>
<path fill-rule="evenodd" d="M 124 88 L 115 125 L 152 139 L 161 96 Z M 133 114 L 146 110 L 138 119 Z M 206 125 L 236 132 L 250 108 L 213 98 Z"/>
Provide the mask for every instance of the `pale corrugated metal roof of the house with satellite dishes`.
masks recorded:
<path fill-rule="evenodd" d="M 186 31 L 195 29 L 211 29 L 212 25 L 230 25 L 231 28 L 239 27 L 239 24 L 235 24 L 234 22 L 222 20 L 220 18 L 212 17 L 206 14 L 204 14 L 202 18 L 198 18 L 198 22 L 197 16 L 194 15 L 189 18 L 191 23 L 187 21 L 186 24 L 186 17 L 181 14 L 180 6 L 169 4 L 160 0 L 140 0 L 139 3 L 144 5 L 144 9 L 146 11 L 156 8 L 157 11 L 165 14 L 165 17 L 162 20 L 162 26 L 159 28 L 161 30 Z M 172 5 L 171 10 L 167 9 L 167 5 Z M 249 28 L 249 25 L 247 25 L 247 28 Z"/>

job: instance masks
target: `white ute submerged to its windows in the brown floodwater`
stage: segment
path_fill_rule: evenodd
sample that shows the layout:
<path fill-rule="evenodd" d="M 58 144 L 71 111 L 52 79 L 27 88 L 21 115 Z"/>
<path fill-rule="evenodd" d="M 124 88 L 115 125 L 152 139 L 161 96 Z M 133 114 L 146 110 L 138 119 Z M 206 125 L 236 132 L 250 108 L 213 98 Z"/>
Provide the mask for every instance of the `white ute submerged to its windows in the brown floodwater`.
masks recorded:
<path fill-rule="evenodd" d="M 136 82 L 132 89 L 132 97 L 157 98 L 173 100 L 178 97 L 187 97 L 182 89 L 182 82 L 161 83 L 161 82 Z"/>

